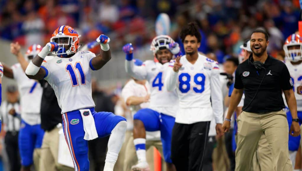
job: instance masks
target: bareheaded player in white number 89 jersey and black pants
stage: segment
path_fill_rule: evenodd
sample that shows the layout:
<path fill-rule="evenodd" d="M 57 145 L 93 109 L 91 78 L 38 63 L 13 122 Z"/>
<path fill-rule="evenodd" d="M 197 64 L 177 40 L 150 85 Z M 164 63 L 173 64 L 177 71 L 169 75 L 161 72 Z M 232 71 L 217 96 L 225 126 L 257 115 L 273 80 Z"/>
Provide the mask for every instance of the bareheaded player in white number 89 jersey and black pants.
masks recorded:
<path fill-rule="evenodd" d="M 198 53 L 201 35 L 195 23 L 183 27 L 180 37 L 186 54 L 170 62 L 164 83 L 168 91 L 177 90 L 179 100 L 171 158 L 177 170 L 201 171 L 213 114 L 217 135 L 223 135 L 220 72 L 215 61 Z"/>

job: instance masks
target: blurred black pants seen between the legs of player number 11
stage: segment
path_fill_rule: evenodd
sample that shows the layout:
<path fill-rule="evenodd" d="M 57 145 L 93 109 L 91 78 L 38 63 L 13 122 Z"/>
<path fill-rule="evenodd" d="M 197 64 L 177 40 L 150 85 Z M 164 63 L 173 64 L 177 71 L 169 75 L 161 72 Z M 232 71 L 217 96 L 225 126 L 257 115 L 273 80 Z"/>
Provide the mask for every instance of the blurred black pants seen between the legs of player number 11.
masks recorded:
<path fill-rule="evenodd" d="M 105 166 L 108 140 L 110 136 L 88 141 L 90 168 L 101 171 Z"/>

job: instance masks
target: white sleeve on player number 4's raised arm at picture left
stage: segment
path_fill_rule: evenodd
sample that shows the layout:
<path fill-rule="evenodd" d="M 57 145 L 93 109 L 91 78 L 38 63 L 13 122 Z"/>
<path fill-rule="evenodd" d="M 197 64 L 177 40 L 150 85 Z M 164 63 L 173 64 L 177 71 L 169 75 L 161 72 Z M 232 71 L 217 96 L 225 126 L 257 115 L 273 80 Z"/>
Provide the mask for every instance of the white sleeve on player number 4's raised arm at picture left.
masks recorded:
<path fill-rule="evenodd" d="M 134 77 L 135 79 L 146 79 L 147 77 L 147 70 L 145 66 L 136 66 L 134 65 L 134 61 L 127 61 L 125 60 L 125 70 L 126 72 Z"/>

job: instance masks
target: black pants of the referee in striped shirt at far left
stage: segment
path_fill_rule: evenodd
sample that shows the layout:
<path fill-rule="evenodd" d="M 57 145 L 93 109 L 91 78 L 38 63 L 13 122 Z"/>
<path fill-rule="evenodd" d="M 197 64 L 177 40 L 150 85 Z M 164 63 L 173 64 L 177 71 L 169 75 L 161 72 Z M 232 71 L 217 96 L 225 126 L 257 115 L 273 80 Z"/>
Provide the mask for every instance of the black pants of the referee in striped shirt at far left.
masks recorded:
<path fill-rule="evenodd" d="M 19 171 L 21 159 L 18 147 L 18 132 L 6 132 L 4 141 L 11 171 Z"/>

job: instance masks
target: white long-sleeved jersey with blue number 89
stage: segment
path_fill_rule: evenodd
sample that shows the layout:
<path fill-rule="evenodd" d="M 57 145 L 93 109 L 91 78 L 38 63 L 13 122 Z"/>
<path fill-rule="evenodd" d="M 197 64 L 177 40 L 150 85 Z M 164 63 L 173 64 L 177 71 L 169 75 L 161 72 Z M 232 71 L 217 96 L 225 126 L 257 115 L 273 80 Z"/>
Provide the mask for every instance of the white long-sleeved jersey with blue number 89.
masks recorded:
<path fill-rule="evenodd" d="M 180 58 L 182 67 L 178 73 L 173 71 L 174 63 L 172 60 L 169 64 L 165 84 L 169 91 L 176 88 L 178 93 L 179 110 L 175 122 L 211 121 L 214 113 L 216 123 L 222 123 L 223 103 L 217 63 L 198 54 L 197 61 L 191 64 L 184 55 Z"/>

